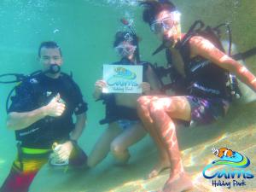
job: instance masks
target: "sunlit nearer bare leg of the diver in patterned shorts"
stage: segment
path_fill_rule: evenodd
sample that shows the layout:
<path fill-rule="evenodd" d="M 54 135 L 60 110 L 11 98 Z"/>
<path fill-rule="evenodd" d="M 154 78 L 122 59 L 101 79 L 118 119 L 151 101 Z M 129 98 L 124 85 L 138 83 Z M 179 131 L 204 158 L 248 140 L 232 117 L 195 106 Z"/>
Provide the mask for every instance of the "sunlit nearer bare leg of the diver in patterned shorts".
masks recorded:
<path fill-rule="evenodd" d="M 182 159 L 177 144 L 176 127 L 172 118 L 190 119 L 190 106 L 185 97 L 159 98 L 150 102 L 149 118 L 139 111 L 143 122 L 153 127 L 160 136 L 160 141 L 167 150 L 171 163 L 171 172 L 163 189 L 164 192 L 181 192 L 192 188 L 189 177 L 183 170 Z M 172 118 L 171 118 L 172 117 Z"/>

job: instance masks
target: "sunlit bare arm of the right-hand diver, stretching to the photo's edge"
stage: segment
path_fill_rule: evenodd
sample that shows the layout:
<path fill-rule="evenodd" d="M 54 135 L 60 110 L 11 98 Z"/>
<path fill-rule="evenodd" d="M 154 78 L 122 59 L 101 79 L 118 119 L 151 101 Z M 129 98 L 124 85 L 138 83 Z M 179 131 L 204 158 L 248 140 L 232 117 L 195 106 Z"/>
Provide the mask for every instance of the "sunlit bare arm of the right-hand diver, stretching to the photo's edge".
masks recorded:
<path fill-rule="evenodd" d="M 224 52 L 216 48 L 206 38 L 195 36 L 189 40 L 189 44 L 192 55 L 201 55 L 218 65 L 218 67 L 222 67 L 230 73 L 235 74 L 241 82 L 247 84 L 247 86 L 256 92 L 256 77 L 241 63 L 224 54 Z"/>

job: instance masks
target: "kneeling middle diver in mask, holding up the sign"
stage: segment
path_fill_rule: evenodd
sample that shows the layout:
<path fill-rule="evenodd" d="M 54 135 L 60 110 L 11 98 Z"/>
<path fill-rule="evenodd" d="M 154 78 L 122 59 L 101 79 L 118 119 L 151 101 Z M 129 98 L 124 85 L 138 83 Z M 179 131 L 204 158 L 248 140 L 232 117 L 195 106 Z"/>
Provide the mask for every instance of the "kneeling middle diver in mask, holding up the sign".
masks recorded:
<path fill-rule="evenodd" d="M 154 95 L 160 92 L 160 82 L 148 62 L 140 61 L 137 35 L 134 31 L 117 32 L 113 48 L 120 56 L 120 61 L 113 65 L 143 65 L 143 95 Z M 128 148 L 139 142 L 146 135 L 137 115 L 137 98 L 142 94 L 134 93 L 102 93 L 107 82 L 97 80 L 93 93 L 96 101 L 102 100 L 106 105 L 106 117 L 101 125 L 108 128 L 97 140 L 88 157 L 88 166 L 94 167 L 104 160 L 108 153 L 113 154 L 118 165 L 124 165 L 130 158 Z"/>

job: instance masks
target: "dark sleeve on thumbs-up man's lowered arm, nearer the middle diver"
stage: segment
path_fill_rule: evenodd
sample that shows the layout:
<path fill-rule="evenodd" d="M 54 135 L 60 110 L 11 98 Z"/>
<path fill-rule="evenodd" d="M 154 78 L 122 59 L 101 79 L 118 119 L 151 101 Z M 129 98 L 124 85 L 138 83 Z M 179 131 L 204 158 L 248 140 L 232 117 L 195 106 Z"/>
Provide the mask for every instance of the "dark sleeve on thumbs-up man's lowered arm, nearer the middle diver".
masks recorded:
<path fill-rule="evenodd" d="M 87 102 L 84 102 L 83 95 L 81 93 L 79 85 L 73 82 L 73 86 L 74 113 L 76 115 L 85 113 L 88 110 L 88 104 Z"/>

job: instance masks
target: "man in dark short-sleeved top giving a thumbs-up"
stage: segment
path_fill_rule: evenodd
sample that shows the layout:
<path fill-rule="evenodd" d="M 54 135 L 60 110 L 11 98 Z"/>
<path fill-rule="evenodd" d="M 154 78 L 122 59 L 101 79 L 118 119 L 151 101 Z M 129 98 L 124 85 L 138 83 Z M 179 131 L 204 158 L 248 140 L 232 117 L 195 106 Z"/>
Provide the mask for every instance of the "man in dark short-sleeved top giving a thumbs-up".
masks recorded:
<path fill-rule="evenodd" d="M 86 165 L 87 156 L 77 141 L 84 130 L 87 103 L 73 79 L 60 72 L 61 48 L 55 42 L 42 43 L 38 57 L 42 72 L 16 87 L 9 108 L 7 126 L 15 131 L 18 155 L 1 192 L 28 191 L 49 160 L 55 166 Z"/>

